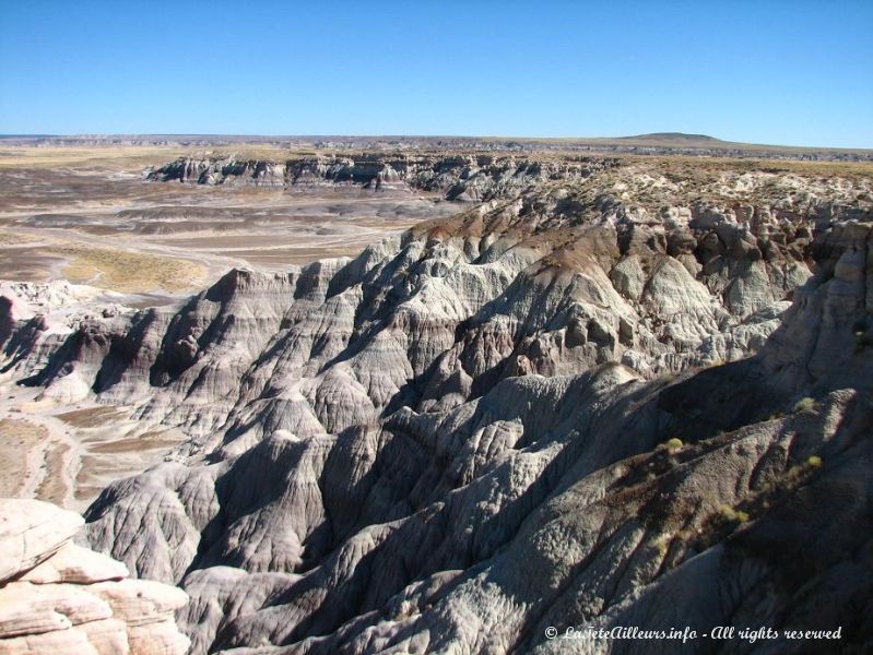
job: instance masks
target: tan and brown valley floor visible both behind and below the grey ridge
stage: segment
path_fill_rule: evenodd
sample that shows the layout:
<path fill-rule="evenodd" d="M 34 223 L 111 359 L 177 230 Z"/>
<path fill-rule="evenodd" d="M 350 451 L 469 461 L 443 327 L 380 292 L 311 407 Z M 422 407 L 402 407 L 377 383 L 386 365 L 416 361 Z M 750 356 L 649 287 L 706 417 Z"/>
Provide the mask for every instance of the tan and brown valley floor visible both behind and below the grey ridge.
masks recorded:
<path fill-rule="evenodd" d="M 130 308 L 170 306 L 233 267 L 286 271 L 354 255 L 458 211 L 426 195 L 359 189 L 288 193 L 144 180 L 149 167 L 180 152 L 4 148 L 0 279 L 67 279 L 118 294 L 113 301 Z M 92 307 L 99 310 L 101 302 Z M 16 382 L 0 376 L 0 497 L 81 511 L 108 483 L 160 462 L 184 440 L 177 430 L 141 429 L 130 408 L 67 404 Z"/>

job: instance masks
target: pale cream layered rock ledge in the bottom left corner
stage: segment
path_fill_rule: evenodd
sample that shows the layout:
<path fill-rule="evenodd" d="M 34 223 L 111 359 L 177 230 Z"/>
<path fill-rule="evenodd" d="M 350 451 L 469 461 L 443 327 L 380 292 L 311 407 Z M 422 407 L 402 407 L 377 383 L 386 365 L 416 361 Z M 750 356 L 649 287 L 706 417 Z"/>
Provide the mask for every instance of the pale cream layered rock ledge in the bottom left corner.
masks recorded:
<path fill-rule="evenodd" d="M 0 499 L 0 655 L 181 655 L 181 590 L 72 543 L 84 524 L 38 500 Z"/>

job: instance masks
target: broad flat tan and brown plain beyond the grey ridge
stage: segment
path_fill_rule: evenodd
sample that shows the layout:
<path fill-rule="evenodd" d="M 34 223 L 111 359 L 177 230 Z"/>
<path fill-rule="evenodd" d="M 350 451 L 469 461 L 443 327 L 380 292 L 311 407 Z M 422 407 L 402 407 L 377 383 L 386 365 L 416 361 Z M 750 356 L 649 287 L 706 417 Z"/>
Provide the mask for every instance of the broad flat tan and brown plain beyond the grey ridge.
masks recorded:
<path fill-rule="evenodd" d="M 293 154 L 261 146 L 244 157 Z M 222 153 L 224 151 L 209 151 Z M 362 189 L 319 192 L 151 182 L 191 150 L 0 147 L 0 278 L 64 278 L 125 294 L 200 289 L 234 266 L 285 270 L 351 255 L 456 205 Z"/>

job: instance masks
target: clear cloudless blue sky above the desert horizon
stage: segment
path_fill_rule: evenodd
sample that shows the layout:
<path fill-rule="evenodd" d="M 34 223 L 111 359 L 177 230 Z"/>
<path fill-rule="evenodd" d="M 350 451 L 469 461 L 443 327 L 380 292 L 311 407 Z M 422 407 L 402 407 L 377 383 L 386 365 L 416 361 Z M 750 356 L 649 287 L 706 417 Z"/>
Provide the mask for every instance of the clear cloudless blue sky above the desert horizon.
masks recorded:
<path fill-rule="evenodd" d="M 0 133 L 873 147 L 873 0 L 0 0 Z"/>

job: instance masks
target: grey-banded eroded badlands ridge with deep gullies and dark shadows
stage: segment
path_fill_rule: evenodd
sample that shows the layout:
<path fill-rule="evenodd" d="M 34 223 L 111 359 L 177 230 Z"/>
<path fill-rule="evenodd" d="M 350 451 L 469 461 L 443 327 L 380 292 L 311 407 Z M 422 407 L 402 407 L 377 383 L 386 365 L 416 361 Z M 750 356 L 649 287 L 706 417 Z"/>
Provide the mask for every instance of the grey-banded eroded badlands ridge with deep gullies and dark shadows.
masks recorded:
<path fill-rule="evenodd" d="M 192 653 L 640 652 L 548 639 L 616 626 L 839 628 L 815 652 L 869 652 L 865 166 L 185 157 L 152 183 L 457 213 L 161 307 L 8 298 L 5 374 L 185 436 L 85 534 L 185 591 Z M 811 652 L 780 634 L 762 652 Z"/>

